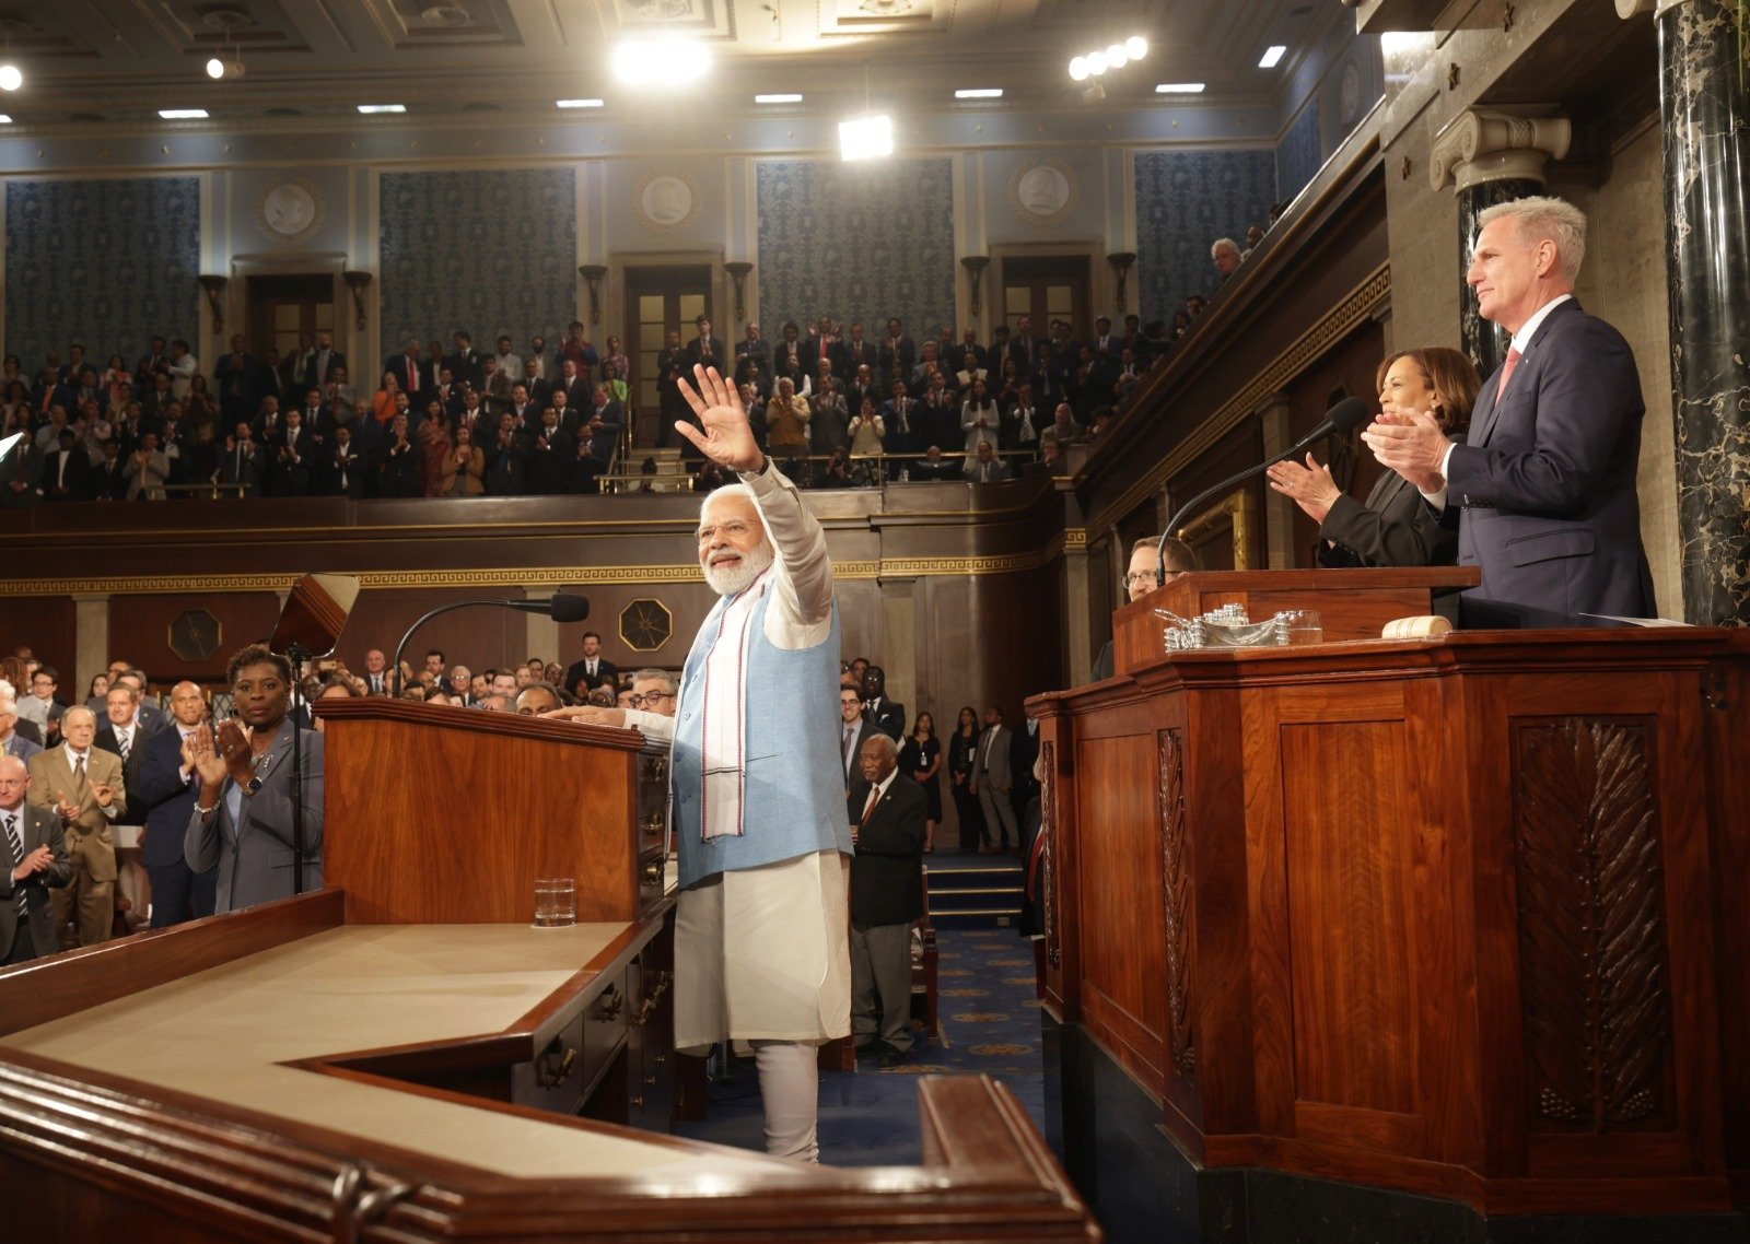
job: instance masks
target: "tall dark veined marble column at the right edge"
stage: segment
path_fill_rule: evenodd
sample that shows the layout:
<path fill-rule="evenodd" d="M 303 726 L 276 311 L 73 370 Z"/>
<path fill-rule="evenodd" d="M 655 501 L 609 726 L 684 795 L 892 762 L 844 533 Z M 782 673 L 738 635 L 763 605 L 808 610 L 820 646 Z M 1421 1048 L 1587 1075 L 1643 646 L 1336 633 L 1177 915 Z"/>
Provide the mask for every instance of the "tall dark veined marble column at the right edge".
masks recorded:
<path fill-rule="evenodd" d="M 1750 28 L 1661 0 L 1666 271 L 1684 618 L 1750 625 Z M 1675 609 L 1668 604 L 1666 609 Z"/>

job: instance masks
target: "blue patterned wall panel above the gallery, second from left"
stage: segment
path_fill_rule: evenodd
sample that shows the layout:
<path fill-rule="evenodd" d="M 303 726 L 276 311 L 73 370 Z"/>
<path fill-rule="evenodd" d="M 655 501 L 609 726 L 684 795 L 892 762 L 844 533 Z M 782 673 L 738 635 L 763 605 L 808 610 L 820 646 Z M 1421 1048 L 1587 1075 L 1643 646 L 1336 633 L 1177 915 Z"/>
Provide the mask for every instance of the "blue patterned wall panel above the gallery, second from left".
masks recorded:
<path fill-rule="evenodd" d="M 467 329 L 525 350 L 578 318 L 578 187 L 570 168 L 383 173 L 383 357 Z"/>

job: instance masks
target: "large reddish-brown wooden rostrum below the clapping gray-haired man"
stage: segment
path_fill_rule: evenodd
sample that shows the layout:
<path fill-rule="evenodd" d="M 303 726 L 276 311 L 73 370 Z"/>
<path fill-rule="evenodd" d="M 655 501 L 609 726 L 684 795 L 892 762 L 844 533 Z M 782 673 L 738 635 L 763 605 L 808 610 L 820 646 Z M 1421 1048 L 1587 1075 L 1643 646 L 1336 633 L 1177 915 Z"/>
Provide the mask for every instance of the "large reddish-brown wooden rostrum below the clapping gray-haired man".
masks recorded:
<path fill-rule="evenodd" d="M 1181 595 L 1248 581 L 1256 602 L 1265 577 Z M 1323 590 L 1272 600 L 1330 618 Z M 1029 700 L 1046 1010 L 1181 1153 L 1482 1214 L 1750 1193 L 1741 633 L 1132 649 L 1118 668 Z"/>

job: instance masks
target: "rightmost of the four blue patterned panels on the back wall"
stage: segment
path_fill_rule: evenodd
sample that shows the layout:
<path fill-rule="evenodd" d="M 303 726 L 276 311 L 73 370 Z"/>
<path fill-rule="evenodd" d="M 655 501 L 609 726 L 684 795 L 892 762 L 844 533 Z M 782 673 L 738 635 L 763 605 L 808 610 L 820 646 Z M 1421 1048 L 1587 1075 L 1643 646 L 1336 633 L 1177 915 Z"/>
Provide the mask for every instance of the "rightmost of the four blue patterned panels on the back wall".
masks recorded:
<path fill-rule="evenodd" d="M 1166 320 L 1216 285 L 1209 245 L 1267 224 L 1276 201 L 1270 150 L 1148 150 L 1136 156 L 1136 269 L 1143 322 Z"/>

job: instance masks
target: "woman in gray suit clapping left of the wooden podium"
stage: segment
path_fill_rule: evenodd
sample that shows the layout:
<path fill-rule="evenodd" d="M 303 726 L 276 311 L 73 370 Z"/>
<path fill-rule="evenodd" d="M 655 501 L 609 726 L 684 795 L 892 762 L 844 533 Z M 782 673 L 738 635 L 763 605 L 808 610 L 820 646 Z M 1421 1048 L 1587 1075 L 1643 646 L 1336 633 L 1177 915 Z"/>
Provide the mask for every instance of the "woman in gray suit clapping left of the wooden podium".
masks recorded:
<path fill-rule="evenodd" d="M 289 898 L 299 863 L 292 847 L 292 670 L 264 644 L 226 668 L 238 716 L 194 731 L 201 779 L 182 850 L 189 868 L 219 868 L 215 912 Z M 322 735 L 303 731 L 304 889 L 322 885 Z"/>

